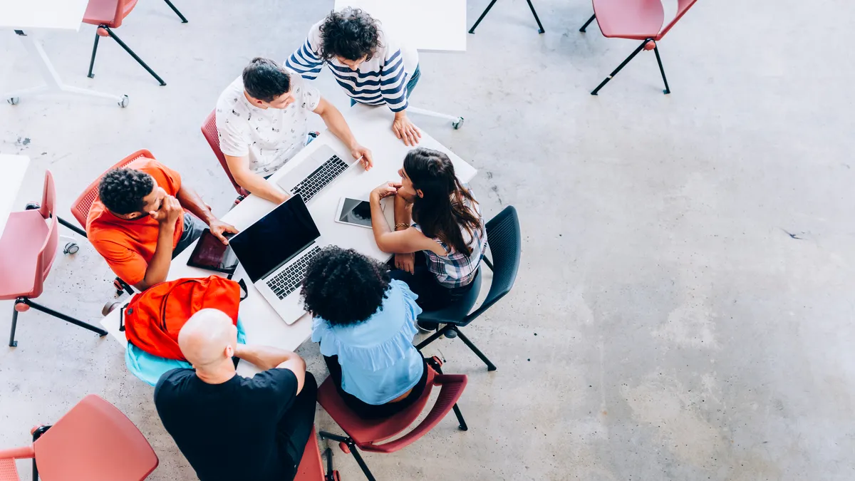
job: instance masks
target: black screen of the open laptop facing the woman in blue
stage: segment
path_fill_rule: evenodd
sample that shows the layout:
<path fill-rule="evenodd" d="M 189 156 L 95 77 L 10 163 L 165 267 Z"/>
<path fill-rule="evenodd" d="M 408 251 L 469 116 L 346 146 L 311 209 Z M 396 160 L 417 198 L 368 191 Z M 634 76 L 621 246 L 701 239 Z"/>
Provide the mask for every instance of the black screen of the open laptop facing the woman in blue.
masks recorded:
<path fill-rule="evenodd" d="M 279 269 L 320 236 L 303 199 L 295 195 L 228 243 L 255 283 Z"/>

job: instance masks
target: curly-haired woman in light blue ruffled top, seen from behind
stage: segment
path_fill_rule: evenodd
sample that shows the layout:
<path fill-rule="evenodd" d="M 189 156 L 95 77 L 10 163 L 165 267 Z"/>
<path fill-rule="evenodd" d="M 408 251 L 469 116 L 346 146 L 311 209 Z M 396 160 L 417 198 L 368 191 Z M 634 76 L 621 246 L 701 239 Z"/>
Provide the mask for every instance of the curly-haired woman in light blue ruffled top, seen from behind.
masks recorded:
<path fill-rule="evenodd" d="M 416 347 L 422 309 L 386 264 L 330 246 L 312 259 L 302 294 L 312 341 L 342 399 L 363 419 L 392 416 L 422 396 L 428 371 Z"/>

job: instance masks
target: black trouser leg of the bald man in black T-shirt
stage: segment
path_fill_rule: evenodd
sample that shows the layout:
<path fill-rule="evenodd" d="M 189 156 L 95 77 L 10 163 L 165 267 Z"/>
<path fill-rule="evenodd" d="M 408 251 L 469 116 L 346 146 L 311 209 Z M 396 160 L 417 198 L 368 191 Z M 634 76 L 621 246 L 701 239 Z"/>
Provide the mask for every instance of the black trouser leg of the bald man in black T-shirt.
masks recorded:
<path fill-rule="evenodd" d="M 306 442 L 315 425 L 315 403 L 318 399 L 318 383 L 311 372 L 306 372 L 303 390 L 276 425 L 276 444 L 282 464 L 290 470 L 291 480 L 297 475 L 297 466 L 303 459 Z"/>

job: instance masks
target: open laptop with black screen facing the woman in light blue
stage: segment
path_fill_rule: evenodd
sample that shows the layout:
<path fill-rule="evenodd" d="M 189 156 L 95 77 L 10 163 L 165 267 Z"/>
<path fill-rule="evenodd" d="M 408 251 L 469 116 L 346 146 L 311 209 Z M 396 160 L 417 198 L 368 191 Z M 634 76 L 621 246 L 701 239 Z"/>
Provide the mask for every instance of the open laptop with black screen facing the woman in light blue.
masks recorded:
<path fill-rule="evenodd" d="M 309 261 L 327 246 L 303 199 L 294 195 L 229 241 L 258 292 L 287 323 L 305 312 L 300 286 Z"/>

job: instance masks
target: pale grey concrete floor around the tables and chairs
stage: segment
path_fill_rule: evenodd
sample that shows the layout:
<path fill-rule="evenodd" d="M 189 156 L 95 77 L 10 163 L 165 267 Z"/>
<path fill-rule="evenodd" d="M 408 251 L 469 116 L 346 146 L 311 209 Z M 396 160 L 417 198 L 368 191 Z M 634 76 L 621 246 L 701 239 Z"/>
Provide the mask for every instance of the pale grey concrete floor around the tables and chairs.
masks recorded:
<path fill-rule="evenodd" d="M 117 31 L 165 87 L 109 39 L 86 79 L 92 27 L 46 37 L 68 83 L 131 105 L 0 105 L 0 151 L 33 161 L 19 206 L 38 198 L 44 169 L 65 211 L 148 148 L 227 210 L 234 192 L 200 122 L 245 62 L 284 59 L 332 2 L 176 3 L 189 24 L 153 0 Z M 486 215 L 520 212 L 516 287 L 467 330 L 498 371 L 440 341 L 447 371 L 469 375 L 470 430 L 445 419 L 369 466 L 380 479 L 855 478 L 855 6 L 702 0 L 661 42 L 671 95 L 645 52 L 592 97 L 637 43 L 595 24 L 578 33 L 588 2 L 535 3 L 545 34 L 525 2 L 502 0 L 465 54 L 422 54 L 413 97 L 466 117 L 459 131 L 417 122 L 480 169 Z M 469 2 L 469 24 L 485 5 Z M 0 90 L 38 78 L 13 35 L 0 56 Z M 317 85 L 345 105 L 329 74 Z M 81 243 L 57 258 L 44 303 L 97 322 L 110 278 Z M 3 333 L 9 303 L 0 310 Z M 154 446 L 150 479 L 194 478 L 115 341 L 38 312 L 20 321 L 19 347 L 0 349 L 0 446 L 97 393 Z M 300 352 L 326 376 L 314 345 Z M 362 478 L 350 456 L 335 462 Z"/>

